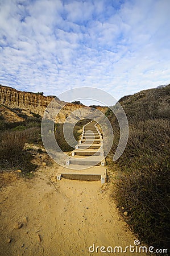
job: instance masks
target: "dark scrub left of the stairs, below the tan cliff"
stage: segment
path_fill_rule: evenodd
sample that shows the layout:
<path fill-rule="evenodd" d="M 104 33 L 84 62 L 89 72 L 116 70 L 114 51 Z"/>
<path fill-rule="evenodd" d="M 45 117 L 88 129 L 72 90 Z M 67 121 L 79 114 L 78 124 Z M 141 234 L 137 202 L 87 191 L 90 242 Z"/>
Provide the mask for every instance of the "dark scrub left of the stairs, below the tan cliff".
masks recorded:
<path fill-rule="evenodd" d="M 33 112 L 31 112 L 32 116 L 28 116 L 23 114 L 22 110 L 18 108 L 7 109 L 9 109 L 10 112 L 14 112 L 19 117 L 22 117 L 23 121 L 8 122 L 8 120 L 0 114 L 0 170 L 7 171 L 20 169 L 23 174 L 29 174 L 30 171 L 36 170 L 37 166 L 31 162 L 34 156 L 32 156 L 31 152 L 24 150 L 24 144 L 33 143 L 41 146 L 43 145 L 41 136 L 42 117 Z M 76 141 L 78 141 L 81 134 L 79 130 L 88 121 L 89 119 L 81 120 L 74 126 L 73 134 Z M 51 121 L 48 120 L 47 126 L 45 126 L 47 129 L 47 137 L 49 134 L 48 127 L 50 122 Z M 61 150 L 73 150 L 73 148 L 65 141 L 62 123 L 55 124 L 55 137 Z M 72 134 L 70 137 L 72 138 Z M 51 139 L 50 136 L 49 139 Z"/>

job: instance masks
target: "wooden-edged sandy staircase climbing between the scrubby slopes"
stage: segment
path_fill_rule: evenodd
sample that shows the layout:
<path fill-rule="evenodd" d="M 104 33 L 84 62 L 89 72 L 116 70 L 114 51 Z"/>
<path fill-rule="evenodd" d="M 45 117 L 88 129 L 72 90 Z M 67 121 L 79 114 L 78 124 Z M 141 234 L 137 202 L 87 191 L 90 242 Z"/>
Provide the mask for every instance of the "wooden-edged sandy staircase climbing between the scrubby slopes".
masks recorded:
<path fill-rule="evenodd" d="M 101 180 L 106 182 L 106 162 L 103 139 L 95 119 L 84 125 L 81 139 L 66 162 L 67 168 L 57 174 L 61 177 L 79 180 Z"/>

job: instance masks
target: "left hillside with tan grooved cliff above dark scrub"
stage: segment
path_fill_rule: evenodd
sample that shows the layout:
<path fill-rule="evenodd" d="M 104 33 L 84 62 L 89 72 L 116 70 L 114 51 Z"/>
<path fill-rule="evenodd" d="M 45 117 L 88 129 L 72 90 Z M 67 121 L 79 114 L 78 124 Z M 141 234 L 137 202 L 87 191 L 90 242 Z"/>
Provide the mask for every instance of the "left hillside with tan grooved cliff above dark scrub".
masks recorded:
<path fill-rule="evenodd" d="M 63 124 L 75 123 L 74 138 L 80 136 L 78 130 L 86 123 L 85 118 L 96 117 L 94 108 L 86 107 L 81 102 L 64 102 L 55 96 L 43 96 L 43 93 L 21 92 L 19 90 L 0 85 L 0 171 L 21 168 L 27 174 L 36 165 L 31 163 L 31 154 L 24 152 L 25 143 L 38 144 L 43 148 L 41 139 L 41 123 L 45 109 L 52 101 L 52 112 L 45 112 L 49 120 L 55 119 L 55 136 L 61 150 L 71 151 L 73 148 L 65 141 Z M 94 106 L 101 112 L 105 107 Z M 53 108 L 59 113 L 53 117 Z M 81 109 L 83 108 L 83 112 Z M 75 112 L 75 110 L 77 110 Z M 98 114 L 98 113 L 97 113 Z M 20 159 L 22 159 L 20 163 Z"/>

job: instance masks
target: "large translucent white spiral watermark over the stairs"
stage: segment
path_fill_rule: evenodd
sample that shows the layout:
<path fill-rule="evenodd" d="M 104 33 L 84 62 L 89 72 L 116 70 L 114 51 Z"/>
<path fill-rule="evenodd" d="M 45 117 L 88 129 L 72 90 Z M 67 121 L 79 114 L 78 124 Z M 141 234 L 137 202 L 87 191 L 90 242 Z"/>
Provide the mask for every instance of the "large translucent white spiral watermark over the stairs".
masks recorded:
<path fill-rule="evenodd" d="M 59 102 L 59 98 L 62 102 Z M 81 100 L 93 100 L 98 102 L 100 105 L 109 106 L 110 112 L 113 112 L 119 123 L 120 138 L 117 146 L 117 150 L 114 153 L 113 161 L 117 160 L 125 150 L 127 140 L 128 140 L 128 121 L 126 114 L 119 102 L 115 100 L 113 96 L 104 90 L 91 88 L 91 87 L 81 87 L 67 90 L 61 93 L 59 96 L 54 98 L 45 109 L 42 118 L 42 141 L 47 151 L 48 155 L 51 156 L 56 163 L 60 164 L 65 168 L 71 168 L 67 166 L 68 155 L 61 150 L 59 144 L 55 138 L 55 123 L 57 118 L 60 119 L 67 107 L 68 102 L 81 101 Z M 117 103 L 115 105 L 115 103 Z M 114 106 L 115 105 L 115 106 Z M 67 113 L 67 118 L 65 119 L 63 126 L 63 133 L 65 141 L 73 148 L 76 148 L 78 142 L 75 140 L 73 135 L 74 126 L 76 123 L 82 119 L 95 120 L 102 129 L 102 144 L 104 150 L 104 156 L 109 153 L 111 147 L 113 146 L 114 133 L 113 128 L 109 119 L 103 112 L 96 108 L 82 107 L 78 109 L 70 109 Z M 94 138 L 93 138 L 94 141 Z M 92 142 L 93 143 L 93 142 Z M 82 143 L 86 146 L 86 143 Z M 81 145 L 82 145 L 81 144 Z M 72 158 L 72 156 L 71 156 Z M 92 158 L 92 156 L 87 156 L 86 159 Z M 100 160 L 99 160 L 100 161 Z M 91 166 L 89 166 L 91 167 Z M 74 166 L 73 169 L 81 170 L 85 169 L 83 165 Z"/>

